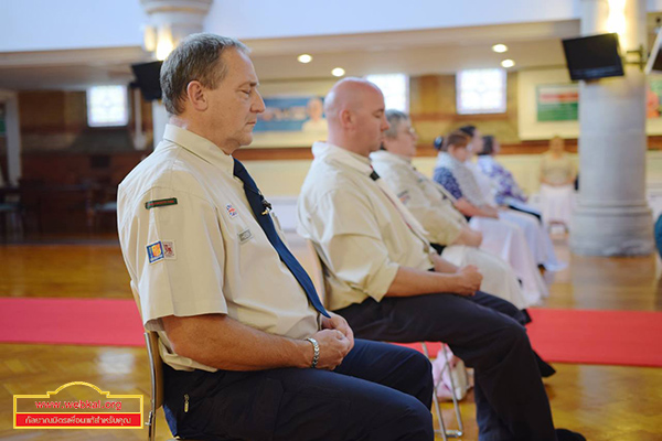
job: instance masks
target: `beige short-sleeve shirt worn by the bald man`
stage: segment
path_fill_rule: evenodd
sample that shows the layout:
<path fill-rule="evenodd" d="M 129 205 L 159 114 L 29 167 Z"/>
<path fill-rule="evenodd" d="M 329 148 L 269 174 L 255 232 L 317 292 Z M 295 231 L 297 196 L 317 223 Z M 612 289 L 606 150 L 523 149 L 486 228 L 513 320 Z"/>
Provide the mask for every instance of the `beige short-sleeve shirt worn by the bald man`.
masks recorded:
<path fill-rule="evenodd" d="M 332 157 L 316 152 L 332 151 Z M 298 233 L 310 239 L 330 277 L 331 310 L 381 301 L 399 266 L 434 267 L 429 243 L 407 226 L 402 215 L 370 178 L 367 158 L 318 142 L 316 159 L 301 189 Z M 343 158 L 337 161 L 333 158 Z"/>

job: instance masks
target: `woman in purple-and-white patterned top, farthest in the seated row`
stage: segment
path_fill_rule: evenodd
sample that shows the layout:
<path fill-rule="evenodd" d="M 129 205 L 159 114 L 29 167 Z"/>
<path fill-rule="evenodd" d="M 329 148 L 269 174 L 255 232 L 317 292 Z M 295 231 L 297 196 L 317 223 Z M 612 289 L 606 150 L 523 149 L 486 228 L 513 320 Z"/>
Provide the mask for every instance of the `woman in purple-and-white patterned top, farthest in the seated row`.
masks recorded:
<path fill-rule="evenodd" d="M 501 152 L 499 141 L 493 136 L 488 135 L 483 137 L 482 144 L 482 151 L 477 152 L 478 168 L 492 181 L 496 203 L 519 212 L 532 214 L 542 220 L 541 213 L 526 204 L 528 198 L 513 178 L 513 174 L 494 159 Z"/>

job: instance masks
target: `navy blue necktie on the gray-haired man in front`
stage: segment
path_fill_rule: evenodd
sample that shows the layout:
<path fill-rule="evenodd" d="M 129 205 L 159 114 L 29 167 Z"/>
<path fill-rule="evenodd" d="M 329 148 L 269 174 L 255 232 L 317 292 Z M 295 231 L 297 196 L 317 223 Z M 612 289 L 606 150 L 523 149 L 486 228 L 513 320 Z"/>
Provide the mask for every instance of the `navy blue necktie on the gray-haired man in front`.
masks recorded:
<path fill-rule="evenodd" d="M 320 298 L 314 290 L 312 280 L 310 280 L 310 277 L 308 277 L 308 273 L 303 267 L 301 267 L 301 263 L 299 263 L 297 258 L 290 252 L 289 249 L 287 249 L 287 246 L 282 243 L 282 240 L 280 240 L 280 236 L 278 236 L 276 227 L 274 226 L 274 220 L 271 220 L 271 216 L 269 216 L 269 209 L 271 208 L 271 205 L 265 201 L 260 191 L 257 189 L 257 185 L 255 185 L 255 181 L 253 181 L 253 178 L 250 178 L 248 171 L 246 171 L 244 168 L 244 164 L 236 159 L 234 161 L 234 175 L 244 182 L 244 192 L 246 193 L 246 198 L 250 204 L 250 208 L 255 214 L 257 223 L 264 229 L 267 238 L 274 248 L 276 248 L 276 251 L 278 251 L 280 260 L 282 260 L 282 262 L 289 268 L 301 288 L 303 288 L 303 291 L 306 291 L 306 295 L 308 295 L 310 303 L 312 303 L 314 309 L 321 314 L 330 316 L 322 305 L 322 302 L 320 302 Z"/>

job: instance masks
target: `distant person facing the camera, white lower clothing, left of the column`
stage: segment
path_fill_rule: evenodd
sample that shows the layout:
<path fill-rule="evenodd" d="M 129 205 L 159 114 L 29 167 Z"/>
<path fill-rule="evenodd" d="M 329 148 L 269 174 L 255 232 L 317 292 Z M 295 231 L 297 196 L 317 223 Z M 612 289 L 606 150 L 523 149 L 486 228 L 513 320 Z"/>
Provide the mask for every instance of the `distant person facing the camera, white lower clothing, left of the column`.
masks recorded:
<path fill-rule="evenodd" d="M 541 160 L 541 205 L 543 218 L 568 229 L 574 203 L 577 169 L 565 152 L 563 138 L 554 137 Z"/>

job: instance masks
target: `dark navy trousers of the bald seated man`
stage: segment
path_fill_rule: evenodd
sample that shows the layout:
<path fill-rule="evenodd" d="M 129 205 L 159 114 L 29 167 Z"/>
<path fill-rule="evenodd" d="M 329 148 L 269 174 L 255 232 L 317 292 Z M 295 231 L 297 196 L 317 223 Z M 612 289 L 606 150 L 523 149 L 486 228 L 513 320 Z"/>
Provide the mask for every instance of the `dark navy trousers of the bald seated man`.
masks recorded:
<path fill-rule="evenodd" d="M 361 338 L 448 343 L 474 369 L 481 441 L 556 440 L 524 314 L 483 292 L 367 299 L 335 311 Z"/>

